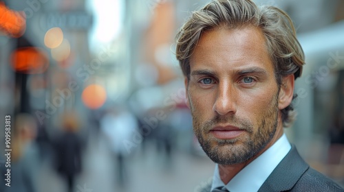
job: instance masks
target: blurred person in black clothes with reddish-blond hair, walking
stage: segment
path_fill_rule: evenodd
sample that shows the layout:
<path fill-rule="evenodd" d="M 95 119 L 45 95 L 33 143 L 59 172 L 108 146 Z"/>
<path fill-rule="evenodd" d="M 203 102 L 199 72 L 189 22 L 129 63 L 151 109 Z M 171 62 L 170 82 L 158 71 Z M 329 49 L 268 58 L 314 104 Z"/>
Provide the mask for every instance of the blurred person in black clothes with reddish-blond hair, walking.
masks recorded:
<path fill-rule="evenodd" d="M 80 122 L 76 112 L 65 112 L 63 133 L 55 140 L 56 169 L 65 178 L 69 192 L 74 190 L 75 178 L 82 170 L 82 142 L 78 136 Z"/>

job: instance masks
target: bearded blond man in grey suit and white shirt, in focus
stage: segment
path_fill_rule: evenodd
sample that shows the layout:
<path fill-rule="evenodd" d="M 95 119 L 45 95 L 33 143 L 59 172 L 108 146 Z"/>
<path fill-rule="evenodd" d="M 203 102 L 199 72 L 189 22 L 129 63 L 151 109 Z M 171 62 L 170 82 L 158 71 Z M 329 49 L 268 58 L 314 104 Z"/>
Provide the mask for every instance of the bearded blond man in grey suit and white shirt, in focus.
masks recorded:
<path fill-rule="evenodd" d="M 217 163 L 202 191 L 344 191 L 283 134 L 304 64 L 285 12 L 249 0 L 212 1 L 176 39 L 193 129 Z"/>

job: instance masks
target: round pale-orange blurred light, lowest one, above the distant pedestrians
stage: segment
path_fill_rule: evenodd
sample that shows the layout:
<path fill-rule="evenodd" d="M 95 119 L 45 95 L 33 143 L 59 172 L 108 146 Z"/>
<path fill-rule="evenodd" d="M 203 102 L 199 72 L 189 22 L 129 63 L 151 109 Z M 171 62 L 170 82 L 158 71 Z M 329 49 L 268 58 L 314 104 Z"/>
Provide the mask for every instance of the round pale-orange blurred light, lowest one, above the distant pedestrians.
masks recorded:
<path fill-rule="evenodd" d="M 91 84 L 84 89 L 82 99 L 85 106 L 91 109 L 97 109 L 105 103 L 107 93 L 103 86 Z"/>

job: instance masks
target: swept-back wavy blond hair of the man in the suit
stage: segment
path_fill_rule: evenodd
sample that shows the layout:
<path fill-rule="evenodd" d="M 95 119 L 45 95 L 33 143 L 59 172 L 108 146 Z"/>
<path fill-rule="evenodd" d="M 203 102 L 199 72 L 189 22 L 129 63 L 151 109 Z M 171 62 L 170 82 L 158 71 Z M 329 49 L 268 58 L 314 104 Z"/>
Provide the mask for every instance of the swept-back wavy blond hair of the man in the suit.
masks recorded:
<path fill-rule="evenodd" d="M 284 76 L 299 77 L 305 63 L 304 53 L 290 17 L 279 8 L 257 7 L 250 0 L 211 1 L 191 14 L 176 36 L 175 54 L 184 76 L 189 79 L 190 57 L 203 32 L 222 26 L 234 29 L 249 25 L 259 27 L 264 34 L 278 86 Z M 281 115 L 283 125 L 290 126 L 295 116 L 292 104 L 281 110 Z"/>

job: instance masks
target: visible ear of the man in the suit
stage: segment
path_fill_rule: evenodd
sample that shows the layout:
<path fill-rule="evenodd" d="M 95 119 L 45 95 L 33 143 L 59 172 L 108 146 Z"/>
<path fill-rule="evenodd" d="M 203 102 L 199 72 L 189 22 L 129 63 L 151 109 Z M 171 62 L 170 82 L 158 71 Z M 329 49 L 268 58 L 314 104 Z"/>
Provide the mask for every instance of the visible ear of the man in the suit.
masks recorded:
<path fill-rule="evenodd" d="M 292 102 L 294 95 L 294 74 L 282 78 L 279 90 L 279 110 L 286 108 Z"/>

